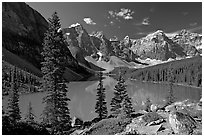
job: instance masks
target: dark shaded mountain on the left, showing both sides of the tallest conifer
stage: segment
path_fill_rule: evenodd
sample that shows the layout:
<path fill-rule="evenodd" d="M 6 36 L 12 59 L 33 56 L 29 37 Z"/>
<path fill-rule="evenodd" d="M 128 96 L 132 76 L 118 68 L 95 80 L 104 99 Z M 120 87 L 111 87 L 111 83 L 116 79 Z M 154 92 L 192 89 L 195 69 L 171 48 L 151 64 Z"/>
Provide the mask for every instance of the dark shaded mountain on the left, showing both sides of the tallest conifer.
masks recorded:
<path fill-rule="evenodd" d="M 11 65 L 41 77 L 41 52 L 48 22 L 36 10 L 23 2 L 2 3 L 3 60 Z M 85 43 L 87 44 L 87 43 Z M 67 45 L 65 45 L 67 46 Z M 83 57 L 76 58 L 70 48 L 67 69 L 64 74 L 69 81 L 86 79 L 101 68 L 88 63 Z M 74 49 L 77 51 L 77 49 Z M 73 56 L 72 56 L 73 55 Z M 79 60 L 79 61 L 78 61 Z M 81 64 L 80 60 L 87 64 Z M 73 78 L 73 79 L 72 79 Z"/>

